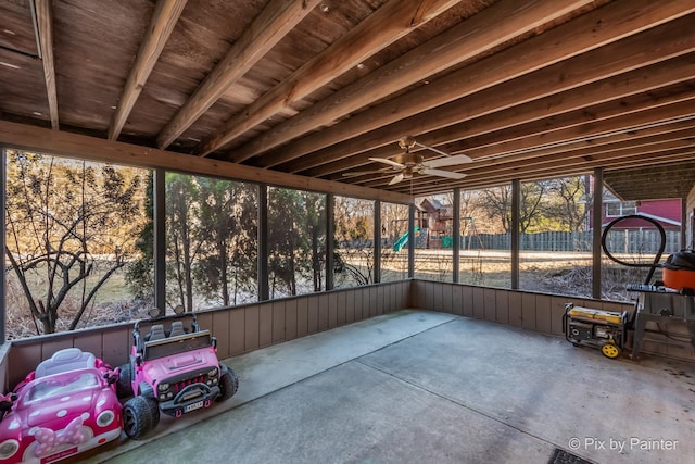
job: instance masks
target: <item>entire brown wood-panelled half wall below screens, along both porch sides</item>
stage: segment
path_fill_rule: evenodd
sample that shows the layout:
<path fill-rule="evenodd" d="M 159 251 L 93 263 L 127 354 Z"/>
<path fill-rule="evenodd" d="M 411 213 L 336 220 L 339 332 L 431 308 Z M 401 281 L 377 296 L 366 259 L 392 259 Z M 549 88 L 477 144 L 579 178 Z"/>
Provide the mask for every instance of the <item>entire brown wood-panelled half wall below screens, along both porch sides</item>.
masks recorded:
<path fill-rule="evenodd" d="M 633 311 L 629 303 L 462 284 L 402 280 L 197 314 L 201 327 L 210 328 L 217 337 L 218 356 L 226 359 L 407 308 L 446 312 L 561 336 L 563 314 L 568 302 L 606 311 Z M 659 327 L 650 323 L 647 328 L 657 330 Z M 683 324 L 666 324 L 660 328 L 668 335 L 648 334 L 649 340 L 654 341 L 645 342 L 643 353 L 695 360 L 695 350 L 688 343 L 690 335 Z M 682 343 L 662 343 L 672 341 L 667 337 L 675 337 Z M 0 380 L 7 391 L 41 360 L 70 347 L 91 351 L 117 366 L 127 362 L 131 340 L 132 324 L 14 340 L 9 342 L 9 350 L 1 361 Z"/>

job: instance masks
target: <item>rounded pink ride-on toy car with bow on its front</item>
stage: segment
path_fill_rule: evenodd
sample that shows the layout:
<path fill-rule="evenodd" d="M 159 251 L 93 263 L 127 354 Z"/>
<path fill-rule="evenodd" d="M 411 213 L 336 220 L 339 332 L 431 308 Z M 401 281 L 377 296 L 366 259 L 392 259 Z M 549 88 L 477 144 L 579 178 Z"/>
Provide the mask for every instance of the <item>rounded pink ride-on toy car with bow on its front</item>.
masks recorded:
<path fill-rule="evenodd" d="M 78 348 L 42 361 L 0 396 L 0 463 L 51 463 L 118 438 L 117 377 Z"/>

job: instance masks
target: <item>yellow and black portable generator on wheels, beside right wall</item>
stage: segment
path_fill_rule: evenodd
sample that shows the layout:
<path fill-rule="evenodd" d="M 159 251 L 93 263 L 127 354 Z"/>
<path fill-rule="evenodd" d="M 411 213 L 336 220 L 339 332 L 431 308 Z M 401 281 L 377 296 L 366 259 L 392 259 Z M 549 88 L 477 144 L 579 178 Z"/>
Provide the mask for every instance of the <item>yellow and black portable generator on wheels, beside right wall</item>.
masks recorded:
<path fill-rule="evenodd" d="M 615 359 L 620 355 L 626 344 L 628 317 L 627 311 L 618 313 L 567 303 L 563 316 L 563 331 L 567 341 L 576 347 L 586 341 L 599 347 L 605 356 Z"/>

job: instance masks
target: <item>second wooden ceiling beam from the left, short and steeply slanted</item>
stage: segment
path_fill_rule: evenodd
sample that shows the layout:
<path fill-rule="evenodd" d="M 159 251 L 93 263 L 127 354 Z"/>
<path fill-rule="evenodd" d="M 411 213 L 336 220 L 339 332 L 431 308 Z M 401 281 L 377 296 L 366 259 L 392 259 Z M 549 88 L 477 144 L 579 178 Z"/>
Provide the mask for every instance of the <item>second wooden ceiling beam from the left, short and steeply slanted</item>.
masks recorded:
<path fill-rule="evenodd" d="M 150 20 L 150 25 L 144 33 L 135 64 L 130 68 L 123 95 L 111 120 L 109 140 L 116 140 L 121 135 L 121 130 L 123 130 L 123 126 L 135 102 L 140 97 L 140 92 L 159 61 L 187 2 L 188 0 L 159 0 L 156 2 L 152 20 Z"/>

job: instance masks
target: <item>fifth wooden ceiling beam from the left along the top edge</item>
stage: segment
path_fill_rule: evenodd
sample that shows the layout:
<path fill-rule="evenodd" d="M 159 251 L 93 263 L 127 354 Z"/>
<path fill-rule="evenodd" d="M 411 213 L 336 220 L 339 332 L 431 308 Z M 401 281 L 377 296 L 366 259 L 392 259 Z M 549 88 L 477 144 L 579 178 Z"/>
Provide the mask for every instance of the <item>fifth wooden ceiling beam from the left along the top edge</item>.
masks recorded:
<path fill-rule="evenodd" d="M 435 36 L 233 150 L 241 163 L 580 9 L 590 0 L 505 0 Z M 500 18 L 504 21 L 500 21 Z M 261 165 L 261 167 L 267 167 Z"/>

